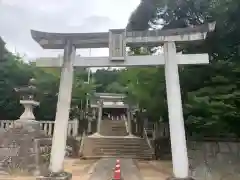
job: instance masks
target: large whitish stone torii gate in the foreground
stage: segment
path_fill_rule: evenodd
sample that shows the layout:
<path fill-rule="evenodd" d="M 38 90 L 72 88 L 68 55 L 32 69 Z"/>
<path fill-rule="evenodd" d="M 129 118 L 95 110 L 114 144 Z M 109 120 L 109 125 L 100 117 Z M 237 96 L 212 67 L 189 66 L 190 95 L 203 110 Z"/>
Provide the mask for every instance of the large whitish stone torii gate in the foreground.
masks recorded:
<path fill-rule="evenodd" d="M 176 43 L 199 41 L 215 29 L 215 23 L 197 27 L 126 32 L 124 29 L 101 33 L 47 33 L 31 31 L 33 39 L 44 49 L 64 49 L 63 58 L 41 58 L 39 67 L 61 67 L 56 124 L 53 135 L 50 170 L 63 171 L 67 123 L 71 102 L 73 67 L 165 66 L 168 114 L 173 162 L 173 179 L 188 177 L 188 156 L 179 85 L 179 64 L 207 64 L 208 54 L 177 54 Z M 127 56 L 126 46 L 160 46 L 164 53 L 157 56 Z M 109 57 L 79 57 L 76 48 L 109 47 Z"/>

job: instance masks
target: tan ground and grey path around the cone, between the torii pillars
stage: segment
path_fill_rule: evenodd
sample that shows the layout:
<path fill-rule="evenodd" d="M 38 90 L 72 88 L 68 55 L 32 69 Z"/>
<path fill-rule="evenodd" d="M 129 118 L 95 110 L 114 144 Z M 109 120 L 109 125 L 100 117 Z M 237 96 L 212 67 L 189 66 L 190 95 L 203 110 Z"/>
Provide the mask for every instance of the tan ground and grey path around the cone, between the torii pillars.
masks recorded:
<path fill-rule="evenodd" d="M 64 170 L 72 180 L 112 180 L 116 158 L 100 160 L 65 159 Z M 166 180 L 171 176 L 170 161 L 136 161 L 120 159 L 124 180 Z M 36 180 L 33 176 L 0 176 L 0 180 Z"/>

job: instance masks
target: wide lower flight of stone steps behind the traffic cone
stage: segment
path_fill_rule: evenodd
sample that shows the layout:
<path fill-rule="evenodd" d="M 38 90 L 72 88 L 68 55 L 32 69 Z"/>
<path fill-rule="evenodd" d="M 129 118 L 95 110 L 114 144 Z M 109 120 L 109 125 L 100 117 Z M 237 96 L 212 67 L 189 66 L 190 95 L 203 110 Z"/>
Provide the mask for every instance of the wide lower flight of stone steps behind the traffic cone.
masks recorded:
<path fill-rule="evenodd" d="M 141 138 L 91 138 L 84 139 L 83 157 L 125 157 L 151 159 L 153 152 Z"/>

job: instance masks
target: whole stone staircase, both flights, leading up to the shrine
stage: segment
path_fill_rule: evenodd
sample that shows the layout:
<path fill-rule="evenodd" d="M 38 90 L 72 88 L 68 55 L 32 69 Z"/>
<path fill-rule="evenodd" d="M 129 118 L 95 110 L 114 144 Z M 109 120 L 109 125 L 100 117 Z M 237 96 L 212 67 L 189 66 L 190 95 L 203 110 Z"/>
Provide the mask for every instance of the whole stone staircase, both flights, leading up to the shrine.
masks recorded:
<path fill-rule="evenodd" d="M 100 135 L 83 139 L 81 155 L 85 159 L 121 157 L 152 159 L 153 150 L 146 139 L 127 136 L 124 121 L 102 121 Z"/>

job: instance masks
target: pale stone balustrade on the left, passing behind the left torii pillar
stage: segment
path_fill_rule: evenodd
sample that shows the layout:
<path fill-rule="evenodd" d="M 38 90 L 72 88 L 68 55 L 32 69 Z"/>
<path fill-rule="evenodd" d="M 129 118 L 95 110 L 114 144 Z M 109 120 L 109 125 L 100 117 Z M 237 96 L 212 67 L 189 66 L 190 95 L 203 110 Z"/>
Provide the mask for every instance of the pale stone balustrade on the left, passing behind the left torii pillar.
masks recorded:
<path fill-rule="evenodd" d="M 39 121 L 41 129 L 48 136 L 53 135 L 55 121 Z M 11 125 L 14 124 L 13 120 L 0 120 L 0 129 L 8 129 Z M 78 120 L 68 121 L 68 136 L 77 136 L 78 135 Z"/>

